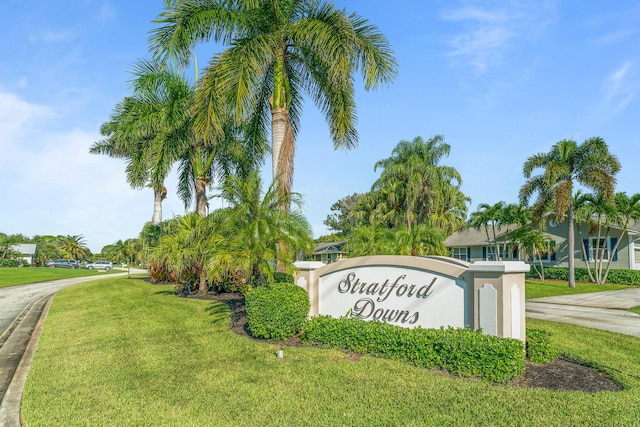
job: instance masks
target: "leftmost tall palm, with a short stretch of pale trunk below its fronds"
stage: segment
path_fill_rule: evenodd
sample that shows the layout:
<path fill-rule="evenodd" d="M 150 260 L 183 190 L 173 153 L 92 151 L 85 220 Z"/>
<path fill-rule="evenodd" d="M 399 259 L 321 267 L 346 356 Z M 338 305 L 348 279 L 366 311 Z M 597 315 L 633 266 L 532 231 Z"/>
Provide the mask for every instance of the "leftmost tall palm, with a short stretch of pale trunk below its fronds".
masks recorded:
<path fill-rule="evenodd" d="M 116 105 L 90 152 L 127 160 L 127 181 L 154 193 L 151 222 L 162 221 L 164 181 L 192 138 L 193 89 L 171 67 L 147 60 L 133 70 L 133 95 Z M 205 195 L 206 200 L 206 195 Z"/>

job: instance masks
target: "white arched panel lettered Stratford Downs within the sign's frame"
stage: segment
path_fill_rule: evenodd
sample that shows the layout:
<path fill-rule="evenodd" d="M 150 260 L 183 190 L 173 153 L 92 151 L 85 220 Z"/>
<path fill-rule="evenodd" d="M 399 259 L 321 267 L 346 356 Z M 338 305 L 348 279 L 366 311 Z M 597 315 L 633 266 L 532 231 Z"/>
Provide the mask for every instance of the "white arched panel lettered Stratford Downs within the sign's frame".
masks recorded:
<path fill-rule="evenodd" d="M 318 314 L 404 327 L 462 328 L 472 323 L 463 280 L 414 267 L 345 267 L 320 275 Z"/>

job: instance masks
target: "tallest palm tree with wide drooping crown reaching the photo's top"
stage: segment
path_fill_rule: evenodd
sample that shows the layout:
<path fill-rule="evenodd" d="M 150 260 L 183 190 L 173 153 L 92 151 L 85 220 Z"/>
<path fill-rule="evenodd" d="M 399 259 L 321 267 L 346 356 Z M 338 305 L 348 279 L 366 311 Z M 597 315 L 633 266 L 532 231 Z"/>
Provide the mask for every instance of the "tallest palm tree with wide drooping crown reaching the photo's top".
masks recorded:
<path fill-rule="evenodd" d="M 352 148 L 358 142 L 354 73 L 363 75 L 367 90 L 397 73 L 393 52 L 377 28 L 331 3 L 168 0 L 165 6 L 150 37 L 156 58 L 186 65 L 200 42 L 228 45 L 200 82 L 199 129 L 220 133 L 228 108 L 236 125 L 248 122 L 251 133 L 266 136 L 270 121 L 273 177 L 287 196 L 303 94 L 324 113 L 334 147 Z"/>

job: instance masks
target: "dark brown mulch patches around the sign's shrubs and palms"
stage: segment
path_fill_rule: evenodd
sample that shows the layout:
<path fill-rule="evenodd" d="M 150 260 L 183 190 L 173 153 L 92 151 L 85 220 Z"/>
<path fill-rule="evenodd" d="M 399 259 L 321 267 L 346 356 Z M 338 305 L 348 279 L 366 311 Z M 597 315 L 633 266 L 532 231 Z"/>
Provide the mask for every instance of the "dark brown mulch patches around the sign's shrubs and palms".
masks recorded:
<path fill-rule="evenodd" d="M 192 295 L 189 298 L 208 299 L 224 302 L 231 310 L 231 329 L 238 335 L 252 338 L 247 329 L 244 296 L 237 293 Z M 286 346 L 302 346 L 297 337 L 278 341 Z M 546 388 L 549 390 L 573 390 L 587 393 L 600 391 L 620 391 L 622 387 L 602 372 L 578 363 L 556 359 L 546 365 L 525 362 L 525 373 L 509 382 L 517 387 Z"/>

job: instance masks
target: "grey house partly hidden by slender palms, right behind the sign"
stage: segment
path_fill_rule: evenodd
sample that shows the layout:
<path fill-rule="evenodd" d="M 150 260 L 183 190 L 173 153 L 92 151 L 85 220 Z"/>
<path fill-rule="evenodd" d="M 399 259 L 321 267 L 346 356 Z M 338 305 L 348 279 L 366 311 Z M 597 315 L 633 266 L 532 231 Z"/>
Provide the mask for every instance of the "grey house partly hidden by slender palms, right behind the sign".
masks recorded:
<path fill-rule="evenodd" d="M 513 226 L 509 228 L 510 231 L 513 229 Z M 547 266 L 568 267 L 567 222 L 556 223 L 548 220 L 544 231 L 548 237 L 548 251 L 542 255 L 542 262 Z M 610 227 L 608 233 L 604 228 L 601 231 L 602 235 L 598 236 L 597 229 L 593 229 L 586 222 L 576 227 L 575 253 L 573 254 L 576 267 L 595 262 L 600 254 L 605 260 L 609 257 L 621 237 L 622 229 Z M 505 241 L 509 242 L 506 227 L 497 227 L 496 237 L 500 246 L 499 255 L 503 261 L 526 259 L 525 254 L 518 253 L 515 245 L 507 244 L 506 247 L 503 245 Z M 453 258 L 468 262 L 498 259 L 491 229 L 489 229 L 489 238 L 484 228 L 459 230 L 447 237 L 444 244 Z M 640 270 L 640 224 L 632 223 L 627 233 L 622 236 L 618 248 L 613 253 L 611 268 Z"/>

